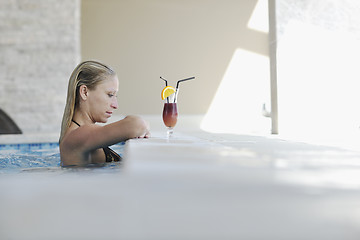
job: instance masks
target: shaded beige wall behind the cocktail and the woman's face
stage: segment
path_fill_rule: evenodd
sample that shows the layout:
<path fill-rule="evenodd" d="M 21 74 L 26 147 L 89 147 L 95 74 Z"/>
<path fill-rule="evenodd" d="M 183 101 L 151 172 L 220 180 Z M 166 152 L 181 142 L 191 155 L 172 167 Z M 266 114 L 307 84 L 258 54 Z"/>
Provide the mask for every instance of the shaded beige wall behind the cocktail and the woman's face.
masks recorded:
<path fill-rule="evenodd" d="M 179 111 L 206 114 L 238 50 L 268 56 L 267 33 L 248 26 L 257 2 L 83 0 L 82 59 L 98 59 L 115 68 L 122 114 L 160 114 L 160 76 L 171 85 L 195 76 L 181 85 Z M 238 67 L 268 71 L 268 66 Z M 235 81 L 243 82 L 246 91 L 244 78 Z M 228 102 L 231 106 L 239 108 L 237 102 Z"/>

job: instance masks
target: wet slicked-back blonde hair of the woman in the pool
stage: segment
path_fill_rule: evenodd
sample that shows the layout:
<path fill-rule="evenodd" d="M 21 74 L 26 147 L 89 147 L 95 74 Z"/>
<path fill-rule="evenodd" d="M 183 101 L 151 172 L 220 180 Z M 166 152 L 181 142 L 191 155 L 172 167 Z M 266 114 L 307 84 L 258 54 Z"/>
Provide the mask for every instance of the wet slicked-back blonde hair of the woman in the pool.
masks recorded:
<path fill-rule="evenodd" d="M 79 105 L 80 86 L 85 85 L 90 90 L 93 90 L 100 82 L 114 75 L 116 75 L 114 70 L 97 61 L 85 61 L 77 65 L 69 79 L 59 143 L 69 129 L 75 109 Z"/>

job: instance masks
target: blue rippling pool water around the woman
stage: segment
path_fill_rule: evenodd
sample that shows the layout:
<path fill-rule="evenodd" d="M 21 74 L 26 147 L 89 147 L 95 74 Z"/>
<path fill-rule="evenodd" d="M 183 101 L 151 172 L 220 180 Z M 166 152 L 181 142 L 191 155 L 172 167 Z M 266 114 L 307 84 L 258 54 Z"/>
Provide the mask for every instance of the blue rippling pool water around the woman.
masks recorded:
<path fill-rule="evenodd" d="M 124 144 L 121 142 L 111 148 L 121 156 Z M 117 163 L 110 163 L 105 167 L 117 165 Z M 0 173 L 36 168 L 61 168 L 58 143 L 0 144 Z"/>

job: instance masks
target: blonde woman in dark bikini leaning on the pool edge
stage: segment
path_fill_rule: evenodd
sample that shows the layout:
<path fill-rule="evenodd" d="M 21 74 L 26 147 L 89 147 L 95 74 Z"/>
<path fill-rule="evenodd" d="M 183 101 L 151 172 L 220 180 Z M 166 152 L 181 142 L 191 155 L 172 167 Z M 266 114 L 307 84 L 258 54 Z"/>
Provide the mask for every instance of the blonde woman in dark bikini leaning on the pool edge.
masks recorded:
<path fill-rule="evenodd" d="M 106 123 L 117 109 L 119 80 L 116 73 L 96 61 L 80 63 L 69 79 L 67 100 L 59 140 L 62 166 L 86 166 L 121 158 L 108 146 L 130 138 L 148 137 L 147 123 L 127 116 Z"/>

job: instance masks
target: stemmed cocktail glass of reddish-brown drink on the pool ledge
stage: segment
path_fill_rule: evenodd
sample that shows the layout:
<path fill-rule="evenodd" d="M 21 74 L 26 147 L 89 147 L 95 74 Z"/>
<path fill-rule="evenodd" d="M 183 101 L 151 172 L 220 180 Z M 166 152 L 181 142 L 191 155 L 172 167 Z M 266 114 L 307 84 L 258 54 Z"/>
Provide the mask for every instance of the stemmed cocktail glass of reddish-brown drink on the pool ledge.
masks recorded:
<path fill-rule="evenodd" d="M 165 126 L 167 127 L 167 138 L 169 139 L 173 132 L 174 127 L 177 122 L 178 118 L 178 111 L 177 111 L 177 94 L 178 89 L 176 92 L 171 94 L 169 97 L 164 99 L 164 109 L 163 109 L 163 121 Z"/>

